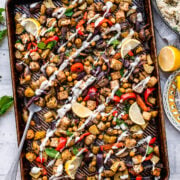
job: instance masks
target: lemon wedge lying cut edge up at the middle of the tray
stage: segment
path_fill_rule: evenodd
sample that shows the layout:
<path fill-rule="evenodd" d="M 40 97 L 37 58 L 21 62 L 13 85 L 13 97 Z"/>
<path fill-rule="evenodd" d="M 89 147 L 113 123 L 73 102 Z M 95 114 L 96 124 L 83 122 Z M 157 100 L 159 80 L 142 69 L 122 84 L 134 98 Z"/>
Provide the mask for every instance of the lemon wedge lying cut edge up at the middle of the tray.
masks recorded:
<path fill-rule="evenodd" d="M 77 102 L 72 104 L 72 111 L 80 118 L 86 118 L 92 114 L 90 109 Z"/>

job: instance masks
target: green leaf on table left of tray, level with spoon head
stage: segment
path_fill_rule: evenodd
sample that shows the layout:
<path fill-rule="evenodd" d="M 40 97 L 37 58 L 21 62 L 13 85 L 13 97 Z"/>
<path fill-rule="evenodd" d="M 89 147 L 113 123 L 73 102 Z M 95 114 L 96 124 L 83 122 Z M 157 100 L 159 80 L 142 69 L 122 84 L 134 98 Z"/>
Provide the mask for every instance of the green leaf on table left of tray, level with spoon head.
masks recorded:
<path fill-rule="evenodd" d="M 0 115 L 4 114 L 13 104 L 13 97 L 3 96 L 0 98 Z"/>

